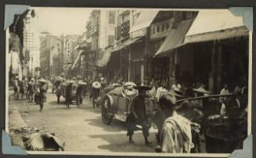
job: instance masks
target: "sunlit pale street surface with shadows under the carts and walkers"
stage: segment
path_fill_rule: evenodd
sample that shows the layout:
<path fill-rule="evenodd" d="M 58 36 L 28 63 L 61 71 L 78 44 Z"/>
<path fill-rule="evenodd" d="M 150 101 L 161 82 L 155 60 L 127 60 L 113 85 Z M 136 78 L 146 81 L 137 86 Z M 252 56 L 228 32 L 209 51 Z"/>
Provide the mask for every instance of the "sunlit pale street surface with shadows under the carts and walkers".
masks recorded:
<path fill-rule="evenodd" d="M 47 94 L 47 102 L 43 111 L 39 106 L 23 101 L 9 101 L 10 112 L 18 110 L 27 127 L 38 127 L 41 131 L 56 134 L 65 142 L 66 151 L 82 152 L 154 152 L 156 138 L 153 130 L 150 132 L 151 147 L 144 145 L 141 131 L 136 131 L 135 145 L 128 143 L 124 122 L 114 120 L 110 125 L 103 124 L 100 109 L 93 109 L 92 103 L 85 99 L 83 105 L 70 106 L 56 103 L 56 94 Z M 17 108 L 16 108 L 17 107 Z M 13 115 L 19 115 L 13 113 Z M 13 117 L 13 116 L 12 116 Z M 15 119 L 16 118 L 16 119 Z M 9 120 L 9 127 L 22 127 L 17 123 L 19 116 Z"/>

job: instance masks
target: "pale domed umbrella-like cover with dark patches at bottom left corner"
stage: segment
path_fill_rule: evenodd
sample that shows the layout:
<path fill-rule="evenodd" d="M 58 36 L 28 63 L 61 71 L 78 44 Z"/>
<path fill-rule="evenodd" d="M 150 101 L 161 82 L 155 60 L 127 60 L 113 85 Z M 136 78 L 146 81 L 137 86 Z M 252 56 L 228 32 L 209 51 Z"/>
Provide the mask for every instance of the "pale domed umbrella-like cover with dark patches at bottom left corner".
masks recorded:
<path fill-rule="evenodd" d="M 24 147 L 26 150 L 35 151 L 59 151 L 64 150 L 64 144 L 54 134 L 36 132 L 29 136 L 23 137 Z"/>

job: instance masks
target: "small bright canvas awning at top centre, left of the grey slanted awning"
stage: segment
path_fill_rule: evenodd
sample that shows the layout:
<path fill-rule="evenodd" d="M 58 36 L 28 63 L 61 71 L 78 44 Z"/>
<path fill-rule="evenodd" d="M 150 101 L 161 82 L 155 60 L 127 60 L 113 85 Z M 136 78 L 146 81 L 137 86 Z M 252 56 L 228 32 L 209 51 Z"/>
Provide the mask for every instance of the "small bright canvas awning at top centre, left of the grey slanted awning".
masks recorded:
<path fill-rule="evenodd" d="M 158 12 L 159 11 L 142 11 L 142 13 L 139 14 L 138 19 L 135 20 L 135 23 L 131 27 L 129 33 L 150 27 L 150 24 L 153 22 Z"/>

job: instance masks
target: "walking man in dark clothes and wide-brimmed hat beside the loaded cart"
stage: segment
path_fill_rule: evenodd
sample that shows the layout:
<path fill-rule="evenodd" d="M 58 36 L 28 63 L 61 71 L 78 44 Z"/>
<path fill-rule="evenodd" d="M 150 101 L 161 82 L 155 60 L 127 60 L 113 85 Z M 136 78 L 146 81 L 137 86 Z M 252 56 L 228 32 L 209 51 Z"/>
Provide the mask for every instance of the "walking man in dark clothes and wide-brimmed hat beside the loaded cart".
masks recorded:
<path fill-rule="evenodd" d="M 129 142 L 133 143 L 132 135 L 134 134 L 136 124 L 142 125 L 142 134 L 145 139 L 145 144 L 150 145 L 152 142 L 149 142 L 148 136 L 150 135 L 150 117 L 146 115 L 146 90 L 150 90 L 146 86 L 136 86 L 139 90 L 139 95 L 132 100 L 131 112 L 127 117 L 127 136 L 129 136 Z"/>

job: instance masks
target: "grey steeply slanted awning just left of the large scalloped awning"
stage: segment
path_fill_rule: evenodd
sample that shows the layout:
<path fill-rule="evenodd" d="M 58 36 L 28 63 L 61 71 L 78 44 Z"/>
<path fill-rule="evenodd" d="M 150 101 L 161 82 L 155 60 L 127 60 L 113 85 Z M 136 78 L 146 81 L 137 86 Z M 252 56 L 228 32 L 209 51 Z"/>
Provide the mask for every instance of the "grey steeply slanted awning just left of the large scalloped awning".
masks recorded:
<path fill-rule="evenodd" d="M 165 38 L 163 44 L 160 46 L 154 56 L 163 55 L 165 52 L 169 52 L 174 48 L 184 45 L 184 38 L 187 31 L 189 31 L 192 21 L 192 19 L 182 21 L 178 24 L 176 29 L 171 29 L 168 37 Z"/>

